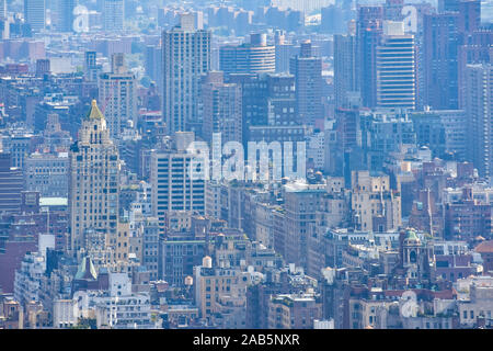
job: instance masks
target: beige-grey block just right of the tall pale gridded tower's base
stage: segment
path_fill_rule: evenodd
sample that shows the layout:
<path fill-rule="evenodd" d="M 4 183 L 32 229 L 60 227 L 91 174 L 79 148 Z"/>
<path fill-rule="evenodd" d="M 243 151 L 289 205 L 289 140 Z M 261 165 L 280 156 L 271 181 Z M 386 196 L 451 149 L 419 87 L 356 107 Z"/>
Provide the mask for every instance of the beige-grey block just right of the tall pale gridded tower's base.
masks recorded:
<path fill-rule="evenodd" d="M 242 140 L 241 88 L 225 83 L 222 72 L 209 72 L 202 86 L 203 137 L 213 141 L 213 133 L 221 134 L 221 143 Z"/>

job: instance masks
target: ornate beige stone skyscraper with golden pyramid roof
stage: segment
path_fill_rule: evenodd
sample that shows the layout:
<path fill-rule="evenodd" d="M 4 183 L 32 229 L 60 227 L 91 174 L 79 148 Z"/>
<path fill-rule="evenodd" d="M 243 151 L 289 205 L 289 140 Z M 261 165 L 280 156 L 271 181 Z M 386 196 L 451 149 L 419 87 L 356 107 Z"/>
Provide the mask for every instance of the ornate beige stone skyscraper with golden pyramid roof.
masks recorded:
<path fill-rule="evenodd" d="M 69 157 L 69 250 L 77 254 L 95 241 L 104 249 L 117 233 L 119 160 L 95 100 Z"/>

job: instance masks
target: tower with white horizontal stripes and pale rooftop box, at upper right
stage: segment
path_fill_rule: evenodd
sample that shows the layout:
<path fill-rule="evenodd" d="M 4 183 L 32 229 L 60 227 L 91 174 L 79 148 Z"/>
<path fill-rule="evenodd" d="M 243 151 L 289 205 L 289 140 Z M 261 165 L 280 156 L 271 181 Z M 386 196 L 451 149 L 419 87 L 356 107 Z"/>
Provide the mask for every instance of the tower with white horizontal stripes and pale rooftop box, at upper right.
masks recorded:
<path fill-rule="evenodd" d="M 414 110 L 416 59 L 414 36 L 404 34 L 403 22 L 383 22 L 377 47 L 377 106 Z"/>

